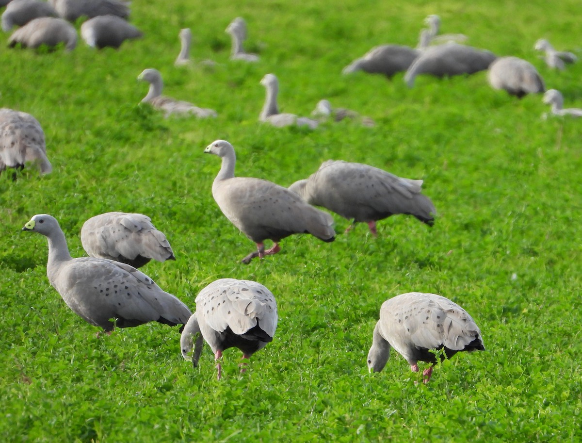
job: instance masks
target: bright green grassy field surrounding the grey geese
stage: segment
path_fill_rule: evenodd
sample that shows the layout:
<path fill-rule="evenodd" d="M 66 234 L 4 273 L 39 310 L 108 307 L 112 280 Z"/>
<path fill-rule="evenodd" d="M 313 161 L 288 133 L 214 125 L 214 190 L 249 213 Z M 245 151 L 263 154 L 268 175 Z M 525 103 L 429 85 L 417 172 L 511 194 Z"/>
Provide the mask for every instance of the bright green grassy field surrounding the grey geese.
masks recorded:
<path fill-rule="evenodd" d="M 532 62 L 546 86 L 582 107 L 582 63 L 551 71 L 534 51 L 548 38 L 582 55 L 580 3 L 191 2 L 134 0 L 144 38 L 119 51 L 37 54 L 5 48 L 1 106 L 41 122 L 54 171 L 0 176 L 0 440 L 6 442 L 552 441 L 582 440 L 582 316 L 579 293 L 582 122 L 541 119 L 540 95 L 517 100 L 486 74 L 434 79 L 413 89 L 343 66 L 374 45 L 416 45 L 423 19 L 443 33 Z M 503 5 L 503 6 L 502 6 Z M 255 64 L 231 62 L 230 20 L 249 26 Z M 78 26 L 78 25 L 77 25 Z M 195 61 L 176 68 L 180 27 Z M 169 118 L 138 105 L 144 68 L 167 95 L 214 108 L 207 121 Z M 321 98 L 377 122 L 328 123 L 314 132 L 261 125 L 261 77 L 275 73 L 283 112 L 307 115 Z M 250 265 L 254 244 L 223 217 L 211 195 L 215 139 L 237 152 L 236 174 L 288 186 L 322 161 L 364 162 L 424 179 L 434 228 L 411 217 L 359 225 L 334 243 L 311 236 Z M 182 359 L 178 328 L 147 324 L 95 337 L 46 275 L 47 244 L 20 233 L 34 214 L 59 219 L 73 256 L 80 228 L 101 212 L 150 215 L 177 261 L 143 268 L 194 309 L 217 278 L 254 279 L 279 305 L 274 341 L 238 373 L 225 352 L 216 380 L 206 346 L 196 370 Z M 576 215 L 577 214 L 577 215 Z M 349 224 L 334 216 L 336 231 Z M 487 352 L 457 355 L 430 384 L 396 353 L 381 373 L 365 357 L 382 302 L 435 292 L 461 304 L 482 329 Z"/>

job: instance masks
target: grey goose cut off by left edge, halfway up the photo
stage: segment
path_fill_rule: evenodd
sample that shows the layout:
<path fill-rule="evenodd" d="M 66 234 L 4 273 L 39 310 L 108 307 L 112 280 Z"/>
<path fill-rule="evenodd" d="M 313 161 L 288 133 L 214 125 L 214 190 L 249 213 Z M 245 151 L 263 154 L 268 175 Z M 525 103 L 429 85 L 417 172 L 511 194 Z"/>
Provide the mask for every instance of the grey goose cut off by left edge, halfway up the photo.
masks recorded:
<path fill-rule="evenodd" d="M 6 168 L 22 170 L 24 162 L 35 160 L 40 161 L 42 174 L 52 171 L 40 123 L 26 112 L 0 108 L 0 173 Z"/>

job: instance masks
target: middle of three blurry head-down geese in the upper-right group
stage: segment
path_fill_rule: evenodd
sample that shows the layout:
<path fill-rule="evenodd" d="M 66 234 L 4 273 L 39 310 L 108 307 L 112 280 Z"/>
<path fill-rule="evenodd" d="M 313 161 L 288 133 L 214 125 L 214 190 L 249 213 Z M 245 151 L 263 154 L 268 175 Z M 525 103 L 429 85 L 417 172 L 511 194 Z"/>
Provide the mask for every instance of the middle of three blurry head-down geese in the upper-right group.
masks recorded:
<path fill-rule="evenodd" d="M 487 69 L 495 58 L 489 51 L 457 43 L 432 46 L 423 51 L 410 65 L 404 81 L 409 87 L 413 87 L 416 76 L 420 74 L 435 77 L 473 74 Z"/>

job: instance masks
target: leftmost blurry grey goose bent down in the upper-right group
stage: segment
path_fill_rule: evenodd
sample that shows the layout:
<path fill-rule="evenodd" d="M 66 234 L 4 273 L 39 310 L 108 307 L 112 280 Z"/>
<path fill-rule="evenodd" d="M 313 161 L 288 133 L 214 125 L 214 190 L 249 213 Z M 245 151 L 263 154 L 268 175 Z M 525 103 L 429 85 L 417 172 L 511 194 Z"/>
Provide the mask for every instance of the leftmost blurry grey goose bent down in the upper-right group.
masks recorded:
<path fill-rule="evenodd" d="M 391 78 L 397 72 L 407 70 L 418 55 L 420 55 L 418 49 L 407 46 L 377 46 L 343 68 L 342 74 L 346 75 L 362 70 L 370 74 L 382 74 Z"/>

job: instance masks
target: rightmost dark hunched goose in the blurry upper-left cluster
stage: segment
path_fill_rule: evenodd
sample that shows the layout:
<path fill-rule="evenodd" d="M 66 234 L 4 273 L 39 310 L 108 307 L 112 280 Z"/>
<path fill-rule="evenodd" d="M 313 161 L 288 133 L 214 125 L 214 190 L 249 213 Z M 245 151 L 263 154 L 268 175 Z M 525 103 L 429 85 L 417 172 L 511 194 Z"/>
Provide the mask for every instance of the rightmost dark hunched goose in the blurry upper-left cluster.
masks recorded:
<path fill-rule="evenodd" d="M 116 15 L 100 15 L 81 24 L 81 37 L 92 48 L 119 48 L 125 40 L 142 35 L 133 24 Z"/>

